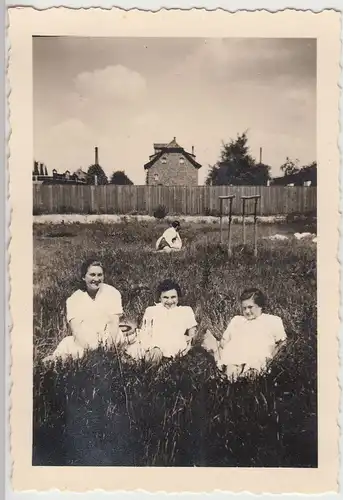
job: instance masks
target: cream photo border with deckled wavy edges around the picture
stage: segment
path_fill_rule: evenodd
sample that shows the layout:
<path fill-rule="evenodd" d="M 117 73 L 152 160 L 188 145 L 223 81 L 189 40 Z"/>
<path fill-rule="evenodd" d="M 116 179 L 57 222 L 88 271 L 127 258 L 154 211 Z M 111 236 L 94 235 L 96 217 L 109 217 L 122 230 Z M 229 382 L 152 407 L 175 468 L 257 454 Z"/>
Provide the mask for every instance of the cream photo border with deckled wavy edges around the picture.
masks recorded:
<path fill-rule="evenodd" d="M 15 490 L 321 493 L 338 489 L 340 14 L 9 11 L 11 453 Z M 317 38 L 318 469 L 32 467 L 32 35 Z"/>

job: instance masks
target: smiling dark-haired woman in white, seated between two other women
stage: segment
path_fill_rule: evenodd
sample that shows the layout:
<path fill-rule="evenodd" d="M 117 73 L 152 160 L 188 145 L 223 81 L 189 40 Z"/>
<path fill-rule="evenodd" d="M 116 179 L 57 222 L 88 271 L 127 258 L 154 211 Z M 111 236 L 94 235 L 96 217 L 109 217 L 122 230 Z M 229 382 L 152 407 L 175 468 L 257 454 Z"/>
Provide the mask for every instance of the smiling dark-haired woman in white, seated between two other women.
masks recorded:
<path fill-rule="evenodd" d="M 146 309 L 136 342 L 126 351 L 134 359 L 158 362 L 183 356 L 191 348 L 197 322 L 191 307 L 179 305 L 179 285 L 162 281 L 156 295 L 158 303 Z"/>

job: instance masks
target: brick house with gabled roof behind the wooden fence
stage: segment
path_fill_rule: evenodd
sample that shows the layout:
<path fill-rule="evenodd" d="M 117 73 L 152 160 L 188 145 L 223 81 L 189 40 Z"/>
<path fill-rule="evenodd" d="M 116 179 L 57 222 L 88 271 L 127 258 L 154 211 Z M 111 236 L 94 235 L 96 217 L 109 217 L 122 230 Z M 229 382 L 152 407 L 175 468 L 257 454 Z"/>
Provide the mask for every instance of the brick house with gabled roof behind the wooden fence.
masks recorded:
<path fill-rule="evenodd" d="M 144 165 L 148 186 L 197 186 L 201 165 L 177 142 L 155 143 L 154 153 Z"/>

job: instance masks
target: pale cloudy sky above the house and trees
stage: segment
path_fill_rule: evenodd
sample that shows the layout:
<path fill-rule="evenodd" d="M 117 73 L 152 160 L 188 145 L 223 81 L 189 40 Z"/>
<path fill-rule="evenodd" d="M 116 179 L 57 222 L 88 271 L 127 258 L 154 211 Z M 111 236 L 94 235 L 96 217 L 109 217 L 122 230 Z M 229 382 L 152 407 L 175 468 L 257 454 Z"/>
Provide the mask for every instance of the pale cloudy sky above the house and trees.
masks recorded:
<path fill-rule="evenodd" d="M 49 173 L 94 163 L 145 183 L 154 143 L 177 142 L 202 165 L 247 131 L 250 153 L 280 174 L 316 160 L 313 39 L 33 39 L 34 155 Z"/>

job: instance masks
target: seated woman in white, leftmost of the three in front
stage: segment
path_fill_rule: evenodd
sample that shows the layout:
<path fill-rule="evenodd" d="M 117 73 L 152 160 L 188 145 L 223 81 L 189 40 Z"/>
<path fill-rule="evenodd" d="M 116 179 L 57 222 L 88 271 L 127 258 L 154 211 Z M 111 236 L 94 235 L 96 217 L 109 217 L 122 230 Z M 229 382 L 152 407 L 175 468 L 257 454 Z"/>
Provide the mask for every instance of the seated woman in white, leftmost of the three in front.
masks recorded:
<path fill-rule="evenodd" d="M 82 264 L 80 287 L 67 299 L 66 306 L 72 335 L 65 337 L 44 361 L 82 357 L 86 349 L 96 349 L 100 342 L 124 342 L 119 328 L 123 312 L 121 294 L 104 283 L 104 266 L 100 261 L 90 259 Z"/>

